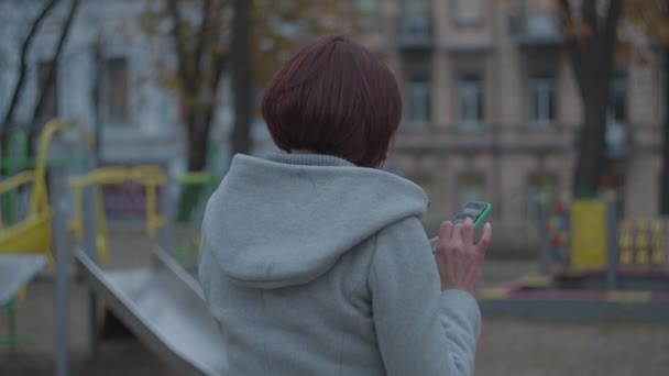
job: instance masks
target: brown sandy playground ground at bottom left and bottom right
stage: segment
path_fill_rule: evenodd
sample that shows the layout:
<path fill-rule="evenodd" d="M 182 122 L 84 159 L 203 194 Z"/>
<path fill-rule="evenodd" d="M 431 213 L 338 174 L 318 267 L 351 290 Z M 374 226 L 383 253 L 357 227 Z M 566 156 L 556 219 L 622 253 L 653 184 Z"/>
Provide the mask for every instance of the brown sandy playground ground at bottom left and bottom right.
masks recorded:
<path fill-rule="evenodd" d="M 141 264 L 145 242 L 136 231 L 112 232 L 112 267 Z M 507 280 L 533 268 L 531 261 L 489 259 L 483 284 Z M 169 369 L 134 339 L 102 343 L 94 358 L 88 349 L 87 289 L 73 283 L 69 303 L 72 375 L 171 375 Z M 21 334 L 35 343 L 15 354 L 0 351 L 0 375 L 53 375 L 53 276 L 44 273 L 19 306 Z M 0 335 L 6 333 L 0 313 Z M 615 323 L 567 324 L 484 318 L 476 375 L 669 375 L 669 325 Z"/>

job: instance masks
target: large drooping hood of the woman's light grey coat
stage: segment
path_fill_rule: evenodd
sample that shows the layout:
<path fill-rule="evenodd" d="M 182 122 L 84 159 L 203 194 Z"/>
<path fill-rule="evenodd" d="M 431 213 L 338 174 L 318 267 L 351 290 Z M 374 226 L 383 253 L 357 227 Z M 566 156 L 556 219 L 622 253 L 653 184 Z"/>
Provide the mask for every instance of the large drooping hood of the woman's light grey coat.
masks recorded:
<path fill-rule="evenodd" d="M 308 283 L 379 230 L 420 217 L 427 196 L 396 175 L 333 156 L 235 155 L 209 199 L 201 252 L 235 284 Z"/>

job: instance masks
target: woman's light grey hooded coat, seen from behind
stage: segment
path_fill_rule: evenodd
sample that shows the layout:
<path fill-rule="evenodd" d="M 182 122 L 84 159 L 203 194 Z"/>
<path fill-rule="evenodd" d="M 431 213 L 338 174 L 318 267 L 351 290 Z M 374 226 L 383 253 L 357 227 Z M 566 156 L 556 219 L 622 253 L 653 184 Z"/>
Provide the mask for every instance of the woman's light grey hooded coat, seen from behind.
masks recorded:
<path fill-rule="evenodd" d="M 471 375 L 474 298 L 440 291 L 425 192 L 323 155 L 237 155 L 199 278 L 230 375 Z"/>

